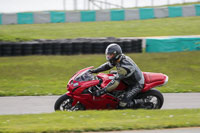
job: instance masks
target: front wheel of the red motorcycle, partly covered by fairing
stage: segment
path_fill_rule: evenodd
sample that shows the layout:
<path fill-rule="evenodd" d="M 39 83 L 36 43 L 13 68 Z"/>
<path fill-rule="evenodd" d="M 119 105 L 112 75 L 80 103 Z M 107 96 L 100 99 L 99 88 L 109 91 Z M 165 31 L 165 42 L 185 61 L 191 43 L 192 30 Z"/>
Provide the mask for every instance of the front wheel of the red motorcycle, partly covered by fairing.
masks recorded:
<path fill-rule="evenodd" d="M 55 111 L 58 111 L 58 110 L 60 110 L 60 111 L 71 110 L 72 102 L 73 102 L 73 99 L 70 96 L 64 94 L 64 95 L 60 96 L 57 99 L 57 101 L 56 101 L 56 103 L 54 105 L 54 110 Z"/>

